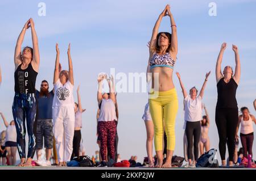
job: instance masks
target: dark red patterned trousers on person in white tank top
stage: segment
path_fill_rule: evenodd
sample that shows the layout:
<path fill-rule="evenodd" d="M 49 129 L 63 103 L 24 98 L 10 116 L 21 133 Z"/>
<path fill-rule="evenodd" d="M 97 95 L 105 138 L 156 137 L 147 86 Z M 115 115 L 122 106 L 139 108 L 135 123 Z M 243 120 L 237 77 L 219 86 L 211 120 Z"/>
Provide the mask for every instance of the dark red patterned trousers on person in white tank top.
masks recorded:
<path fill-rule="evenodd" d="M 110 158 L 115 159 L 115 136 L 117 133 L 116 121 L 98 121 L 98 136 L 101 141 L 101 159 L 106 161 L 107 151 L 110 154 Z"/>

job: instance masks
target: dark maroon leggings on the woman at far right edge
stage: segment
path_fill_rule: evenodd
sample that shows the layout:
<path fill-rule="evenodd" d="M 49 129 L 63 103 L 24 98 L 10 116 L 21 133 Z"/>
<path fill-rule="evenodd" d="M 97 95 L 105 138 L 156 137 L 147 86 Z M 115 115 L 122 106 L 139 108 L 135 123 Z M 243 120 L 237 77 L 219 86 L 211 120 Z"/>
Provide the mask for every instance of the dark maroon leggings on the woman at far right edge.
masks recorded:
<path fill-rule="evenodd" d="M 253 132 L 249 134 L 240 133 L 240 138 L 243 146 L 243 156 L 247 158 L 247 155 L 251 154 L 251 158 L 252 158 L 253 157 L 253 139 L 254 139 Z"/>

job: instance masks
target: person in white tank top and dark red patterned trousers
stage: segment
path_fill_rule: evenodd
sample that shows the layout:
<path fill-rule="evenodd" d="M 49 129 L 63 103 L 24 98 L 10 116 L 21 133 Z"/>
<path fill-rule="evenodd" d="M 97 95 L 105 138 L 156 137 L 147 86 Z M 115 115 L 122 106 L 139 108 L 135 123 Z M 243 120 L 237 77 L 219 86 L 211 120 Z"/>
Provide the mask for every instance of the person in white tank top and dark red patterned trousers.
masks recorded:
<path fill-rule="evenodd" d="M 115 160 L 115 135 L 117 133 L 117 115 L 115 112 L 114 79 L 108 79 L 110 92 L 102 94 L 102 83 L 106 77 L 98 78 L 98 104 L 101 104 L 98 117 L 97 132 L 100 140 L 102 161 L 106 161 L 108 154 Z M 108 151 L 108 153 L 107 153 Z"/>

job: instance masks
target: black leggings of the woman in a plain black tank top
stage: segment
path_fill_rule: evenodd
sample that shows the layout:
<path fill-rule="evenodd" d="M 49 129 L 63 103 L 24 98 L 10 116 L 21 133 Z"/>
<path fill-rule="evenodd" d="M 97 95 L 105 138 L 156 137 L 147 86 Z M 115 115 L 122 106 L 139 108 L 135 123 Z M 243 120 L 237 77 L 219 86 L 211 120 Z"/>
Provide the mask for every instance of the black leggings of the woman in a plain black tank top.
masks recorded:
<path fill-rule="evenodd" d="M 220 149 L 221 160 L 225 160 L 226 142 L 228 142 L 229 161 L 233 161 L 236 148 L 235 137 L 238 124 L 238 109 L 216 108 L 215 122 L 220 139 L 218 148 Z"/>

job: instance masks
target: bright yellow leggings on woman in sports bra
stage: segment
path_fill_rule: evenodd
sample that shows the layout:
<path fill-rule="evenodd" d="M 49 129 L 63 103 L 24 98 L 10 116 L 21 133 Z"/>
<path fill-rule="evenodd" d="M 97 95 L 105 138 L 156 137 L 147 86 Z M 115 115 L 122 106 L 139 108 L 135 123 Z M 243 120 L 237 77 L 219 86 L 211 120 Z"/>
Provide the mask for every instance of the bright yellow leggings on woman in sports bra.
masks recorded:
<path fill-rule="evenodd" d="M 175 149 L 175 119 L 179 103 L 176 89 L 151 91 L 148 99 L 154 123 L 155 150 L 163 150 L 163 121 L 167 136 L 167 149 Z"/>

